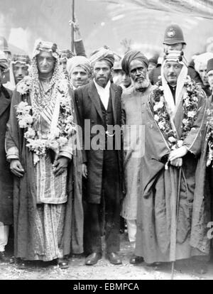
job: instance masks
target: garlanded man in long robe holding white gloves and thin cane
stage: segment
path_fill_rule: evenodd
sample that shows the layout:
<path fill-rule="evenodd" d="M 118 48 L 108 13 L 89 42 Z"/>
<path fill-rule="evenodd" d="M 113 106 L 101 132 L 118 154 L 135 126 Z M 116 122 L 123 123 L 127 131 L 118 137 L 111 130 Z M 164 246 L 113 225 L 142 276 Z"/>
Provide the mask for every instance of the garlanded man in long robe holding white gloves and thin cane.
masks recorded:
<path fill-rule="evenodd" d="M 202 202 L 200 196 L 194 199 L 195 170 L 207 99 L 187 71 L 182 51 L 168 51 L 161 67 L 162 82 L 146 104 L 135 250 L 146 263 L 208 254 L 199 233 L 197 244 L 190 239 L 193 227 L 205 225 L 204 219 L 192 223 L 192 216 Z"/>

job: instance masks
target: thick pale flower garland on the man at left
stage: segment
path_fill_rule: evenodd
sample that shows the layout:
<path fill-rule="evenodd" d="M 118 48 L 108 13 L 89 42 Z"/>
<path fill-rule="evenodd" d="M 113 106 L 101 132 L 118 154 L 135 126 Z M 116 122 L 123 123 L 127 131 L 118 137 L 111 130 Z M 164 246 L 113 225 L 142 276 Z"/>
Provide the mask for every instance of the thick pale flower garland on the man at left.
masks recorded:
<path fill-rule="evenodd" d="M 55 153 L 60 151 L 62 146 L 68 142 L 73 131 L 76 130 L 76 124 L 72 116 L 70 101 L 67 99 L 67 81 L 60 80 L 57 87 L 56 99 L 60 99 L 60 111 L 58 116 L 58 124 L 53 130 L 53 134 L 48 134 L 47 138 L 40 138 L 38 130 L 33 127 L 35 115 L 33 116 L 32 107 L 28 104 L 26 95 L 31 91 L 31 77 L 24 78 L 17 85 L 17 91 L 23 95 L 24 101 L 16 106 L 16 117 L 18 125 L 21 129 L 25 129 L 24 138 L 26 138 L 26 146 L 33 151 L 38 157 L 45 156 L 48 148 L 53 149 Z M 37 162 L 39 158 L 37 159 Z"/>

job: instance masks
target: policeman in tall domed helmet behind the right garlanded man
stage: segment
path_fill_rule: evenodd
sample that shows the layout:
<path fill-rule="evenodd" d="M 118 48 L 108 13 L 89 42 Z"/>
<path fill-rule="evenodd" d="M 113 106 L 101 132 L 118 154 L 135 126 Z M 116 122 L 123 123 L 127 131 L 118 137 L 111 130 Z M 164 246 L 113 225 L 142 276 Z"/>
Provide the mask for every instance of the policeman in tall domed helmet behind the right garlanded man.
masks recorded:
<path fill-rule="evenodd" d="M 171 24 L 165 29 L 165 35 L 163 40 L 163 52 L 166 53 L 168 50 L 185 50 L 185 40 L 183 38 L 182 29 L 177 24 Z M 160 76 L 161 64 L 158 65 L 151 70 L 149 73 L 149 79 L 152 85 L 155 85 L 158 82 L 158 77 Z M 188 75 L 192 80 L 195 80 L 197 84 L 201 87 L 203 86 L 202 80 L 198 72 L 196 72 L 195 68 L 191 65 L 188 65 Z"/>

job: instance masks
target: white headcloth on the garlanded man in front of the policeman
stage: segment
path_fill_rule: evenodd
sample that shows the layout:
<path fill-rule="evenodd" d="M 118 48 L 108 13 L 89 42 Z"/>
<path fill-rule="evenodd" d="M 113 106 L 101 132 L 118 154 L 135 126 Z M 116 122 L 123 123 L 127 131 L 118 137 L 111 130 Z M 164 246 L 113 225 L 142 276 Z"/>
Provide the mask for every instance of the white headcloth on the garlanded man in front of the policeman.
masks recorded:
<path fill-rule="evenodd" d="M 161 66 L 161 78 L 162 78 L 162 86 L 163 86 L 165 102 L 167 104 L 167 108 L 172 119 L 175 116 L 175 113 L 178 109 L 178 105 L 180 104 L 183 94 L 186 94 L 184 84 L 186 81 L 188 68 L 187 68 L 187 60 L 182 54 L 183 54 L 182 51 L 168 50 L 168 52 L 165 53 L 164 60 Z M 182 65 L 182 69 L 180 70 L 180 74 L 178 75 L 178 80 L 176 85 L 175 102 L 174 102 L 173 94 L 170 90 L 170 87 L 168 86 L 168 82 L 167 80 L 165 80 L 165 76 L 164 76 L 164 66 L 165 66 L 165 63 L 168 61 L 176 61 Z"/>

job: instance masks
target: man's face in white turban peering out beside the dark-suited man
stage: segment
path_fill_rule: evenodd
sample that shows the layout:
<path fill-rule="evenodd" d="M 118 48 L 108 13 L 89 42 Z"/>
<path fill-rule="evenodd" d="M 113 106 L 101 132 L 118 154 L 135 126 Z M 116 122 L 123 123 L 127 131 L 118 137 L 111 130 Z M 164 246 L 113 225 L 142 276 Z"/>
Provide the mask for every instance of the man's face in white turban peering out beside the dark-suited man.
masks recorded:
<path fill-rule="evenodd" d="M 88 84 L 92 77 L 92 67 L 84 56 L 75 56 L 67 60 L 67 73 L 73 89 Z"/>

